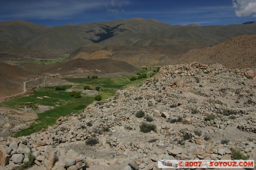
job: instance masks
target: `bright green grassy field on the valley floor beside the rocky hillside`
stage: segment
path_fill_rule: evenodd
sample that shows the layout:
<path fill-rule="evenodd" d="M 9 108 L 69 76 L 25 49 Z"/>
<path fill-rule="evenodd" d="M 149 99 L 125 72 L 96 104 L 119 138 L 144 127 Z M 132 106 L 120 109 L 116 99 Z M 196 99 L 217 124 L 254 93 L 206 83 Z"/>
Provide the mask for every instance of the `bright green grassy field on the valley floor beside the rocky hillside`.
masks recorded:
<path fill-rule="evenodd" d="M 41 97 L 42 99 L 37 97 Z M 69 92 L 38 88 L 33 95 L 4 101 L 1 103 L 1 106 L 17 110 L 20 110 L 21 106 L 30 102 L 33 102 L 34 105 L 54 106 L 53 109 L 38 114 L 39 118 L 36 119 L 28 128 L 22 129 L 13 135 L 13 137 L 20 137 L 38 132 L 42 128 L 46 129 L 48 126 L 55 124 L 55 121 L 60 116 L 70 115 L 71 112 L 81 113 L 82 110 L 93 101 L 94 100 L 91 97 L 74 98 L 69 96 Z M 56 104 L 59 106 L 55 106 Z"/>

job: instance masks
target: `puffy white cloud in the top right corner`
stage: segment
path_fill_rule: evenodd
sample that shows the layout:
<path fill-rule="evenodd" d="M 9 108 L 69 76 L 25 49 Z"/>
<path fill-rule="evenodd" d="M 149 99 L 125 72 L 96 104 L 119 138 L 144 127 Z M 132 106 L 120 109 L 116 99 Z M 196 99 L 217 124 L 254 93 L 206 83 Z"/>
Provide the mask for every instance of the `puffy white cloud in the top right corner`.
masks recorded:
<path fill-rule="evenodd" d="M 232 0 L 233 7 L 237 10 L 235 11 L 236 16 L 253 16 L 256 17 L 256 1 L 255 0 Z"/>

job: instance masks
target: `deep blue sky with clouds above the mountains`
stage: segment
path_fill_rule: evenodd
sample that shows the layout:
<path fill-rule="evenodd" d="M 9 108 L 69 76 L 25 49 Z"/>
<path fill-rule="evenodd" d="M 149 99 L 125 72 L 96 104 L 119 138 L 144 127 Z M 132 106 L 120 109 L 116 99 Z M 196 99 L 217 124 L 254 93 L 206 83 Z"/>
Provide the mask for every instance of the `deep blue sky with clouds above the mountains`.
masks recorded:
<path fill-rule="evenodd" d="M 171 25 L 256 21 L 256 0 L 0 0 L 0 22 L 60 26 L 142 17 Z"/>

